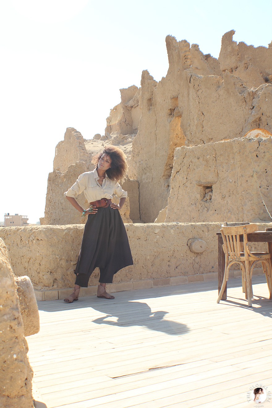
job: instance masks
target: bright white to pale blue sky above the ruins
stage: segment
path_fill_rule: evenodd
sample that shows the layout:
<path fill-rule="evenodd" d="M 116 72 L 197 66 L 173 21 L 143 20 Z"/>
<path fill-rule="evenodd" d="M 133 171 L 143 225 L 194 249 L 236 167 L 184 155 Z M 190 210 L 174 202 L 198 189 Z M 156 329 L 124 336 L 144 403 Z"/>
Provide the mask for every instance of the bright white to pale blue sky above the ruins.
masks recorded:
<path fill-rule="evenodd" d="M 218 58 L 221 37 L 265 47 L 269 0 L 0 0 L 0 221 L 44 215 L 47 177 L 66 127 L 104 134 L 120 88 L 168 70 L 165 37 Z"/>

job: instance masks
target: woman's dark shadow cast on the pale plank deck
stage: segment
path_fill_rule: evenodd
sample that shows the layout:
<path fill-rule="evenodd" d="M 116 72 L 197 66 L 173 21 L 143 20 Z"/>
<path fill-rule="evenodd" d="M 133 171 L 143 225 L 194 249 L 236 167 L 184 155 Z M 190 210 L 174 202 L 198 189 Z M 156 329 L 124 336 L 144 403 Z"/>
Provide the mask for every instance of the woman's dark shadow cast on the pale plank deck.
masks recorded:
<path fill-rule="evenodd" d="M 105 316 L 94 319 L 93 323 L 119 327 L 139 326 L 176 336 L 183 335 L 190 330 L 186 324 L 164 319 L 168 312 L 163 310 L 153 312 L 150 306 L 143 302 L 123 301 L 122 306 L 111 304 L 111 300 L 104 302 L 93 302 L 91 307 L 105 314 Z"/>

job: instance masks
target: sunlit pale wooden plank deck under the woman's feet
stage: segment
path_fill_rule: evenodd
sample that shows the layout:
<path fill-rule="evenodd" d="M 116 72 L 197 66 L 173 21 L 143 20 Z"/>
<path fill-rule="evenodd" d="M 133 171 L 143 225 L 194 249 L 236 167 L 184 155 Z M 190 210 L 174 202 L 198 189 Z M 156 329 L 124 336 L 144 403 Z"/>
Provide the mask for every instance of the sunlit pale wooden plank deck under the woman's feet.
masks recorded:
<path fill-rule="evenodd" d="M 240 279 L 220 304 L 217 282 L 38 302 L 33 382 L 48 408 L 251 406 L 250 386 L 272 392 L 272 301 L 253 283 L 252 308 Z"/>

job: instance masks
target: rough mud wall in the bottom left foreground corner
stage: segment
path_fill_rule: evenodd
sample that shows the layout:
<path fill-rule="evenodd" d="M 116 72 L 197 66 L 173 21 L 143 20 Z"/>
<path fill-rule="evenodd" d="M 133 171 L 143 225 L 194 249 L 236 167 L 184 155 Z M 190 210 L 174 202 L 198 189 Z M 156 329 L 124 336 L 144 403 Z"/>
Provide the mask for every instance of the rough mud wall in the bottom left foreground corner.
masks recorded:
<path fill-rule="evenodd" d="M 33 408 L 32 369 L 7 247 L 0 239 L 0 406 Z"/>

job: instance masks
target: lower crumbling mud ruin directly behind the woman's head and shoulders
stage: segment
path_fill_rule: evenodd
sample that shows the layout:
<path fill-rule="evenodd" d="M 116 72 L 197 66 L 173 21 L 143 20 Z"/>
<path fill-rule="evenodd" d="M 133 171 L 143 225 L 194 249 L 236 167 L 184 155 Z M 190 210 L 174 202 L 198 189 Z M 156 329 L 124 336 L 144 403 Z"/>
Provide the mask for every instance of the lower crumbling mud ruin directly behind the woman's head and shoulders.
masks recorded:
<path fill-rule="evenodd" d="M 91 162 L 93 156 L 106 144 L 118 144 L 129 157 L 132 139 L 124 136 L 123 145 L 120 145 L 116 141 L 118 137 L 120 138 L 116 135 L 102 140 L 101 136 L 97 135 L 95 139 L 84 140 L 77 130 L 73 128 L 66 130 L 64 140 L 56 146 L 54 170 L 48 176 L 44 218 L 40 219 L 42 225 L 85 224 L 86 219 L 65 200 L 63 193 L 74 184 L 80 174 L 95 168 Z M 126 178 L 123 188 L 128 191 L 129 199 L 120 211 L 122 219 L 126 223 L 132 222 L 131 218 L 137 221 L 140 219 L 138 182 Z M 83 193 L 77 201 L 83 208 L 88 208 L 88 202 Z M 115 202 L 116 199 L 113 201 Z"/>

